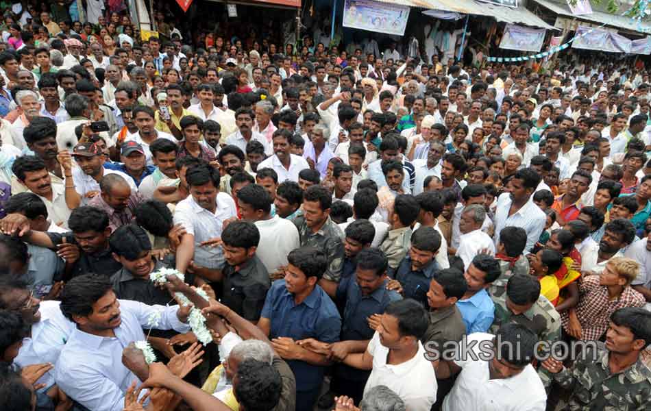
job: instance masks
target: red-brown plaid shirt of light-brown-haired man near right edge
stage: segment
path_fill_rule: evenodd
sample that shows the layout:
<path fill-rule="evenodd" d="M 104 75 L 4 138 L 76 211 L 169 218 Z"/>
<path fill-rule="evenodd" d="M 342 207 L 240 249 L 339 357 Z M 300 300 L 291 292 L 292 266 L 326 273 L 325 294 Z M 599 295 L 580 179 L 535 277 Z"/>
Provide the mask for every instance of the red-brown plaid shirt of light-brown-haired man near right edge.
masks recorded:
<path fill-rule="evenodd" d="M 619 298 L 610 300 L 608 287 L 599 284 L 598 275 L 584 277 L 579 284 L 579 300 L 576 306 L 576 316 L 581 323 L 582 340 L 598 340 L 608 329 L 611 314 L 619 308 L 642 307 L 646 301 L 644 297 L 626 286 Z M 561 314 L 563 329 L 567 331 L 569 314 Z"/>

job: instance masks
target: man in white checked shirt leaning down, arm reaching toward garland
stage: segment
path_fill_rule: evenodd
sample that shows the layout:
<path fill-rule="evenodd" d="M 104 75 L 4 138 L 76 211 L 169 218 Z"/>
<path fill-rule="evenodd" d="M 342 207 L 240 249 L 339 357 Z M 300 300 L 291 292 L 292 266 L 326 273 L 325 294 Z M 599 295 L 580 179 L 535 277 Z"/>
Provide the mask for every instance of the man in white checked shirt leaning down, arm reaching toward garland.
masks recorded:
<path fill-rule="evenodd" d="M 224 221 L 237 216 L 233 198 L 219 192 L 220 179 L 219 170 L 207 164 L 191 166 L 186 171 L 190 195 L 174 211 L 174 224 L 186 230 L 176 251 L 176 269 L 181 273 L 185 273 L 193 260 L 209 269 L 223 265 L 221 247 L 201 245 L 221 237 Z"/>

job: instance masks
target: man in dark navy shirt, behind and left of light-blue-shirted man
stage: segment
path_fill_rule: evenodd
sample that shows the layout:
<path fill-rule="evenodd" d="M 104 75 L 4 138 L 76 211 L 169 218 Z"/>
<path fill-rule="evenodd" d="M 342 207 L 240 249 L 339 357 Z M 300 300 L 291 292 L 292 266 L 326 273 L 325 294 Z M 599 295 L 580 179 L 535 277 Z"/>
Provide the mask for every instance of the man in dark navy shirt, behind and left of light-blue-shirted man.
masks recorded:
<path fill-rule="evenodd" d="M 435 260 L 441 248 L 441 234 L 432 227 L 420 227 L 411 235 L 408 255 L 395 271 L 395 279 L 402 286 L 405 298 L 415 299 L 427 307 L 430 282 L 439 271 Z"/>

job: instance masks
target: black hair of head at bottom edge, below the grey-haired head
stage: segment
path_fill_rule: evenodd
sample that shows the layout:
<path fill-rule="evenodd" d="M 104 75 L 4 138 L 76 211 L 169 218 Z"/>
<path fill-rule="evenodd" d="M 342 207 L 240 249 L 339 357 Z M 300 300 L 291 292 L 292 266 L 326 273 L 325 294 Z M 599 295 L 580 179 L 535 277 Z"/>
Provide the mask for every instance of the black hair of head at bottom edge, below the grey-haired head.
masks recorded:
<path fill-rule="evenodd" d="M 234 395 L 247 411 L 270 411 L 278 405 L 282 391 L 280 373 L 271 364 L 248 358 L 235 375 Z"/>

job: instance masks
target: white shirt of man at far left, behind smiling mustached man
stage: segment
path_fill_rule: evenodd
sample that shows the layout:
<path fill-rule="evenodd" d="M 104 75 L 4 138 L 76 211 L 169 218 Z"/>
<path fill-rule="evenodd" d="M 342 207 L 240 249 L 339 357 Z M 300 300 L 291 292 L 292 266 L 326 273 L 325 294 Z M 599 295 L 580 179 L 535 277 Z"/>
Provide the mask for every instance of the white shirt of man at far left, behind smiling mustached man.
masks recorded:
<path fill-rule="evenodd" d="M 18 356 L 14 358 L 14 364 L 21 367 L 43 362 L 56 364 L 61 349 L 75 329 L 75 323 L 66 319 L 59 305 L 60 301 L 40 302 L 40 321 L 32 325 L 29 337 L 23 338 L 23 345 L 18 351 Z M 54 371 L 47 371 L 36 381 L 38 384 L 45 384 L 43 390 L 55 384 Z"/>

